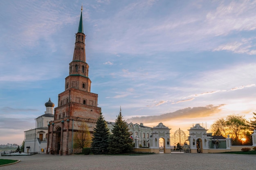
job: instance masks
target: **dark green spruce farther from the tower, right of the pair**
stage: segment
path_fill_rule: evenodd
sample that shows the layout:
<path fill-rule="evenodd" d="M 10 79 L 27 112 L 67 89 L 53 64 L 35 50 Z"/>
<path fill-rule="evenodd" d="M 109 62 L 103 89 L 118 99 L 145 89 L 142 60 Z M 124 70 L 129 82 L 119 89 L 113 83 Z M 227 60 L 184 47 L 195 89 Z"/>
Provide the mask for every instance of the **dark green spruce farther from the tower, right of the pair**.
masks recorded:
<path fill-rule="evenodd" d="M 108 150 L 110 153 L 128 153 L 132 150 L 132 139 L 128 124 L 123 120 L 121 109 L 115 120 L 115 125 L 110 135 Z"/>

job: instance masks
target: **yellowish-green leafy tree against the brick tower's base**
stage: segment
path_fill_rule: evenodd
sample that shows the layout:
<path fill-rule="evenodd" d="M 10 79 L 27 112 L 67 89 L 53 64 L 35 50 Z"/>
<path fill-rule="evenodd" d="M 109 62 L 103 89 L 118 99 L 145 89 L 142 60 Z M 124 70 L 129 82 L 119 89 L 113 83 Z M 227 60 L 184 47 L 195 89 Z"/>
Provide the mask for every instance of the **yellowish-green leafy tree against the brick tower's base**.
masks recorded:
<path fill-rule="evenodd" d="M 74 148 L 86 148 L 91 143 L 91 135 L 88 131 L 88 126 L 85 123 L 81 123 L 78 132 L 74 134 Z"/>

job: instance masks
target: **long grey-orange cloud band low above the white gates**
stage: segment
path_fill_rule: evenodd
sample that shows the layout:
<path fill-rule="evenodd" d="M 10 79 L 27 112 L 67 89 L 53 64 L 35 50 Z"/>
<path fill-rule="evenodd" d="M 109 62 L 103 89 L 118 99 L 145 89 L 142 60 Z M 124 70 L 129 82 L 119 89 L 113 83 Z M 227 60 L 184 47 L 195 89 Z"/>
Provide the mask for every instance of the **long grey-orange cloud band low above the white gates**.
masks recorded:
<path fill-rule="evenodd" d="M 221 111 L 221 107 L 224 106 L 218 105 L 207 105 L 205 107 L 187 107 L 180 109 L 171 113 L 165 113 L 158 116 L 141 116 L 141 117 L 132 117 L 128 118 L 127 122 L 144 122 L 144 123 L 153 123 L 153 122 L 164 122 L 173 119 L 181 118 L 202 118 L 212 116 Z"/>

